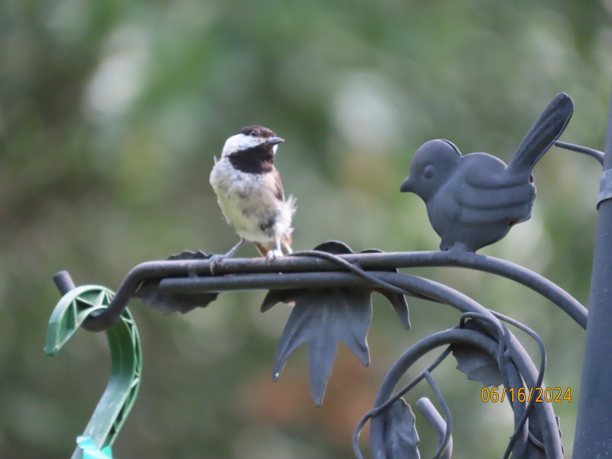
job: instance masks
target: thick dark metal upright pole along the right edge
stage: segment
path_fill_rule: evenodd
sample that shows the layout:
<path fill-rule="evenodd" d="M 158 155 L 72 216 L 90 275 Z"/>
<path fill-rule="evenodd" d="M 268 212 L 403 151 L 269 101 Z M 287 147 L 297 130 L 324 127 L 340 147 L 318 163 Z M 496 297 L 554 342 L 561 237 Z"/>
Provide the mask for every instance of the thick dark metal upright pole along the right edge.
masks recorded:
<path fill-rule="evenodd" d="M 573 457 L 612 457 L 612 91 Z"/>

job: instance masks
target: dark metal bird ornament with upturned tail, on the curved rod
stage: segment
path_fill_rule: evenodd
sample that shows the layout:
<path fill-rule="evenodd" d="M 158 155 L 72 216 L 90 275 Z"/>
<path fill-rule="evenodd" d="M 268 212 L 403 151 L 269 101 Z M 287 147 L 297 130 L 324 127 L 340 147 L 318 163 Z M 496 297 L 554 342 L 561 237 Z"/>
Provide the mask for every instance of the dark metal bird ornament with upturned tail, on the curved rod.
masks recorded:
<path fill-rule="evenodd" d="M 531 217 L 531 172 L 572 118 L 573 102 L 561 92 L 546 106 L 509 165 L 487 153 L 461 156 L 447 140 L 431 140 L 414 155 L 401 192 L 419 195 L 441 250 L 476 252 Z"/>

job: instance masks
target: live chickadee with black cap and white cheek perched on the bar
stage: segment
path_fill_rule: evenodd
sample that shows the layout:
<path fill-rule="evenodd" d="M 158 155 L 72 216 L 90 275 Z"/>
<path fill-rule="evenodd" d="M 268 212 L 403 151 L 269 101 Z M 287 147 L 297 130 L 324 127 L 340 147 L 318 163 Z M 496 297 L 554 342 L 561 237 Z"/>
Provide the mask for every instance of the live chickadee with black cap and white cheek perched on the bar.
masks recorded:
<path fill-rule="evenodd" d="M 211 269 L 231 257 L 245 241 L 268 260 L 291 250 L 294 198 L 285 200 L 280 175 L 274 167 L 278 144 L 284 140 L 263 126 L 247 126 L 226 140 L 221 158 L 215 157 L 211 185 L 227 222 L 240 236 L 225 255 L 211 258 Z"/>

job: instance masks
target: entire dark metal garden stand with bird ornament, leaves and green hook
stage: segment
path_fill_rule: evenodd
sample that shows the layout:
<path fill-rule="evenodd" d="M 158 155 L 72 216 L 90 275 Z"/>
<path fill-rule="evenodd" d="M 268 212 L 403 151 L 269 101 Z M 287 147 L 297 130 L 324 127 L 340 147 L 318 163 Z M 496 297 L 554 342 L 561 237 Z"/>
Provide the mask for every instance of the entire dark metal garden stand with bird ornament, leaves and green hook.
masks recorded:
<path fill-rule="evenodd" d="M 442 248 L 450 250 L 394 253 L 363 250 L 356 253 L 342 242 L 329 241 L 318 245 L 315 250 L 297 252 L 271 263 L 265 259 L 226 259 L 216 267 L 214 275 L 211 255 L 186 251 L 166 261 L 149 261 L 134 267 L 114 297 L 104 287 L 74 288 L 67 274 L 59 274 L 56 283 L 64 296 L 51 316 L 47 352 L 57 353 L 80 326 L 90 331 L 107 330 L 113 375 L 121 380 L 122 387 L 121 397 L 117 394 L 119 405 L 106 403 L 105 400 L 114 397 L 110 394 L 109 384 L 85 433 L 93 441 L 85 439 L 83 444 L 89 448 L 110 445 L 136 395 L 140 381 L 140 345 L 126 309 L 132 297 L 140 297 L 164 313 L 187 313 L 196 307 L 206 307 L 225 291 L 269 289 L 261 307 L 263 312 L 278 302 L 294 304 L 280 337 L 272 377 L 278 379 L 290 354 L 302 343 L 307 343 L 310 388 L 317 405 L 323 402 L 340 341 L 346 343 L 364 365 L 370 363 L 367 332 L 373 313 L 372 293 L 381 293 L 389 300 L 405 330 L 411 326 L 405 296 L 434 302 L 435 307 L 457 310 L 456 327 L 440 330 L 417 341 L 390 368 L 376 395 L 375 406 L 365 414 L 354 433 L 353 449 L 357 458 L 362 458 L 359 432 L 368 420 L 370 449 L 375 459 L 420 457 L 416 418 L 404 397 L 421 382 L 428 384 L 435 396 L 432 400 L 438 406 L 436 409 L 428 398 L 416 403 L 438 437 L 435 457 L 450 457 L 453 419 L 434 376 L 436 367 L 451 355 L 457 360 L 458 370 L 468 379 L 482 384 L 483 390 L 492 393 L 493 389 L 488 387 L 503 385 L 509 394 L 520 394 L 521 390 L 523 394 L 530 394 L 528 400 L 516 397 L 509 404 L 514 428 L 504 458 L 510 455 L 529 459 L 562 458 L 561 430 L 559 419 L 554 416 L 553 404 L 546 400 L 547 397 L 541 403 L 535 403 L 538 390 L 542 394 L 551 388 L 543 385 L 546 352 L 534 330 L 448 286 L 398 272 L 398 268 L 447 266 L 509 278 L 539 293 L 569 315 L 580 327 L 577 335 L 580 329 L 587 328 L 574 457 L 590 459 L 612 455 L 612 292 L 608 291 L 612 288 L 612 106 L 599 197 L 592 316 L 588 327 L 586 308 L 550 280 L 509 261 L 474 253 L 483 245 L 504 237 L 514 223 L 529 218 L 535 191 L 531 183 L 532 166 L 553 143 L 589 154 L 602 162 L 601 152 L 555 142 L 572 111 L 569 96 L 557 95 L 519 147 L 520 152 L 534 155 L 523 157 L 523 154 L 517 154 L 519 163 L 510 162 L 507 168 L 501 160 L 490 155 L 461 158 L 447 142 L 425 144 L 444 147 L 453 160 L 463 161 L 465 165 L 465 168 L 455 170 L 463 175 L 455 176 L 455 179 L 447 176 L 446 182 L 442 180 L 433 184 L 453 185 L 446 188 L 446 192 L 434 196 L 444 186 L 430 187 L 425 182 L 436 173 L 446 171 L 446 166 L 441 170 L 432 169 L 427 161 L 422 163 L 423 155 L 416 155 L 411 167 L 412 178 L 403 187 L 416 192 L 427 202 L 430 221 L 442 238 Z M 436 156 L 439 151 L 434 150 Z M 479 165 L 479 159 L 493 164 L 493 169 L 483 166 L 482 161 Z M 476 175 L 471 169 L 474 164 Z M 521 330 L 535 341 L 539 349 L 539 358 L 535 362 L 512 333 L 512 328 Z M 113 339 L 116 346 L 112 344 Z M 435 353 L 433 362 L 430 353 Z M 121 357 L 125 365 L 116 367 L 115 362 L 119 362 L 116 357 Z M 422 358 L 429 359 L 427 368 L 413 375 L 406 386 L 398 387 L 412 365 Z M 533 390 L 535 394 L 531 397 Z M 110 409 L 111 405 L 113 409 Z M 119 411 L 116 411 L 117 406 L 121 406 Z M 458 419 L 460 422 L 460 417 Z"/>

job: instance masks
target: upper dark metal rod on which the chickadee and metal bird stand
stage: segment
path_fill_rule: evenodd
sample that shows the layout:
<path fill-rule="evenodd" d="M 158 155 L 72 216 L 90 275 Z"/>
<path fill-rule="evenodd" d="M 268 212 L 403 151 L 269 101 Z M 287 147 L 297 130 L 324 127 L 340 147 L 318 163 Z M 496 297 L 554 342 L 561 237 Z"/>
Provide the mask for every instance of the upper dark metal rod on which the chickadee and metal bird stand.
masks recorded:
<path fill-rule="evenodd" d="M 499 258 L 479 255 L 477 253 L 454 253 L 454 252 L 389 252 L 389 253 L 356 253 L 353 255 L 339 256 L 350 263 L 359 264 L 363 269 L 368 270 L 390 270 L 404 267 L 438 267 L 456 266 L 478 271 L 489 272 L 501 275 L 518 282 L 558 305 L 570 317 L 572 317 L 581 327 L 586 327 L 587 311 L 569 293 L 554 284 L 545 277 L 530 271 L 518 264 L 510 263 Z M 168 277 L 193 277 L 203 285 L 206 282 L 216 283 L 217 279 L 230 279 L 223 277 L 222 274 L 264 274 L 283 272 L 282 276 L 277 274 L 279 282 L 287 282 L 288 273 L 307 273 L 338 271 L 343 269 L 333 261 L 299 256 L 284 256 L 269 263 L 263 258 L 231 258 L 223 261 L 223 264 L 215 268 L 215 276 L 211 275 L 209 260 L 173 260 L 173 261 L 147 261 L 135 266 L 124 278 L 117 289 L 117 293 L 110 306 L 98 315 L 91 315 L 83 323 L 83 328 L 90 331 L 102 331 L 110 327 L 121 315 L 132 295 L 141 282 L 147 279 L 162 279 Z M 322 276 L 324 277 L 324 276 Z M 270 277 L 272 279 L 273 277 Z M 205 280 L 206 279 L 206 280 Z M 284 281 L 283 281 L 284 279 Z M 209 281 L 210 280 L 210 281 Z M 248 283 L 247 277 L 242 277 Z M 225 282 L 225 281 L 223 281 Z M 237 281 L 234 289 L 239 289 Z M 362 280 L 361 282 L 364 282 Z M 364 284 L 362 284 L 364 285 Z M 261 288 L 272 288 L 272 285 Z M 209 291 L 214 291 L 211 289 Z"/>

